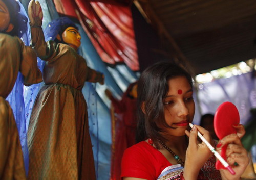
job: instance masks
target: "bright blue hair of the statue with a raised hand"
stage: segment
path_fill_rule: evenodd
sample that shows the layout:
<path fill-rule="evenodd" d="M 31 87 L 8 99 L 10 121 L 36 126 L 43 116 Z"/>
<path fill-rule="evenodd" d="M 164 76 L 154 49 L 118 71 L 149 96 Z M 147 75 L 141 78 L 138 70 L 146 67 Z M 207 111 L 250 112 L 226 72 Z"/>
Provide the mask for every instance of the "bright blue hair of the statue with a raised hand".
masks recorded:
<path fill-rule="evenodd" d="M 70 20 L 68 17 L 60 17 L 58 19 L 55 19 L 48 23 L 45 33 L 46 33 L 46 39 L 54 40 L 56 43 L 65 43 L 62 40 L 62 33 L 68 28 L 68 27 L 74 27 L 78 30 L 78 27 L 75 25 L 74 22 Z M 59 41 L 56 36 L 60 35 L 61 40 Z"/>

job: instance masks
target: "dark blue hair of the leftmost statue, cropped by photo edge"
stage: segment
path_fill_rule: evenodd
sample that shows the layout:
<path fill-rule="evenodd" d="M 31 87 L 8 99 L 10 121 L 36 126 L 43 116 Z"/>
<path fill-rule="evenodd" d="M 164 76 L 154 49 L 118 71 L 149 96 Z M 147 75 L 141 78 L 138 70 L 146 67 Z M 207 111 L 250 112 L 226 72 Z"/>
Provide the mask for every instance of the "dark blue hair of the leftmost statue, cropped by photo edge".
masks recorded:
<path fill-rule="evenodd" d="M 20 13 L 20 6 L 15 0 L 3 0 L 8 8 L 10 15 L 10 23 L 13 24 L 13 29 L 10 32 L 2 32 L 19 38 L 27 31 L 28 18 Z"/>

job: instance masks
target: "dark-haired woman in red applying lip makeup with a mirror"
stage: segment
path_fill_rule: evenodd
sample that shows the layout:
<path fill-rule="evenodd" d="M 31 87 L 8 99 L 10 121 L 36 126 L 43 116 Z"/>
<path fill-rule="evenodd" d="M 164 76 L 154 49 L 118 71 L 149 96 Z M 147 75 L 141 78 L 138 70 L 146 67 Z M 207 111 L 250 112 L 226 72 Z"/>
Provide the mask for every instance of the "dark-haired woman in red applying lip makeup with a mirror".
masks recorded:
<path fill-rule="evenodd" d="M 198 125 L 189 127 L 195 114 L 192 85 L 191 75 L 172 62 L 159 62 L 142 72 L 137 98 L 141 141 L 124 152 L 123 180 L 240 179 L 249 162 L 240 141 L 244 127 L 234 124 L 238 133 L 224 137 L 217 145 L 220 151 L 228 144 L 227 162 L 236 174 L 218 171 L 212 152 L 197 140 L 199 131 L 214 146 L 210 133 Z"/>

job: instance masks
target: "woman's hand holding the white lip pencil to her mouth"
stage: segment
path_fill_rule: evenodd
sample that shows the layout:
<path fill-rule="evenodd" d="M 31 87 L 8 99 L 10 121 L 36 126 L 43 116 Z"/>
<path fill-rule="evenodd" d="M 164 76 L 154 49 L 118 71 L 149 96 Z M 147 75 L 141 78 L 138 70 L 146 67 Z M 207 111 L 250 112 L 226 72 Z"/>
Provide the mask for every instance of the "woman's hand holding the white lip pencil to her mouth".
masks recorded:
<path fill-rule="evenodd" d="M 197 179 L 200 169 L 212 156 L 212 152 L 206 144 L 204 142 L 200 143 L 197 140 L 197 131 L 199 131 L 208 142 L 212 142 L 210 133 L 201 126 L 194 125 L 190 133 L 187 130 L 185 131 L 186 135 L 189 137 L 183 174 L 186 180 Z"/>

